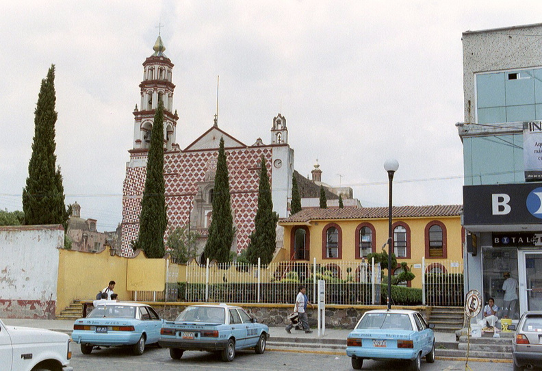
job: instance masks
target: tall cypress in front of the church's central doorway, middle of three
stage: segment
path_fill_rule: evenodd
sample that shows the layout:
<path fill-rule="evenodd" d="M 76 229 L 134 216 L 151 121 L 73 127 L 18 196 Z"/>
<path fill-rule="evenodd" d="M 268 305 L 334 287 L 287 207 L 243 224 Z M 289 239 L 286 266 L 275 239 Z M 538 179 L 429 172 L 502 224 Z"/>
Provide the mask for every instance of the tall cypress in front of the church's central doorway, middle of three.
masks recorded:
<path fill-rule="evenodd" d="M 231 244 L 235 237 L 233 216 L 229 192 L 228 164 L 224 150 L 224 138 L 220 138 L 218 160 L 213 189 L 213 214 L 209 225 L 209 237 L 205 244 L 204 255 L 224 263 L 230 259 Z"/>

